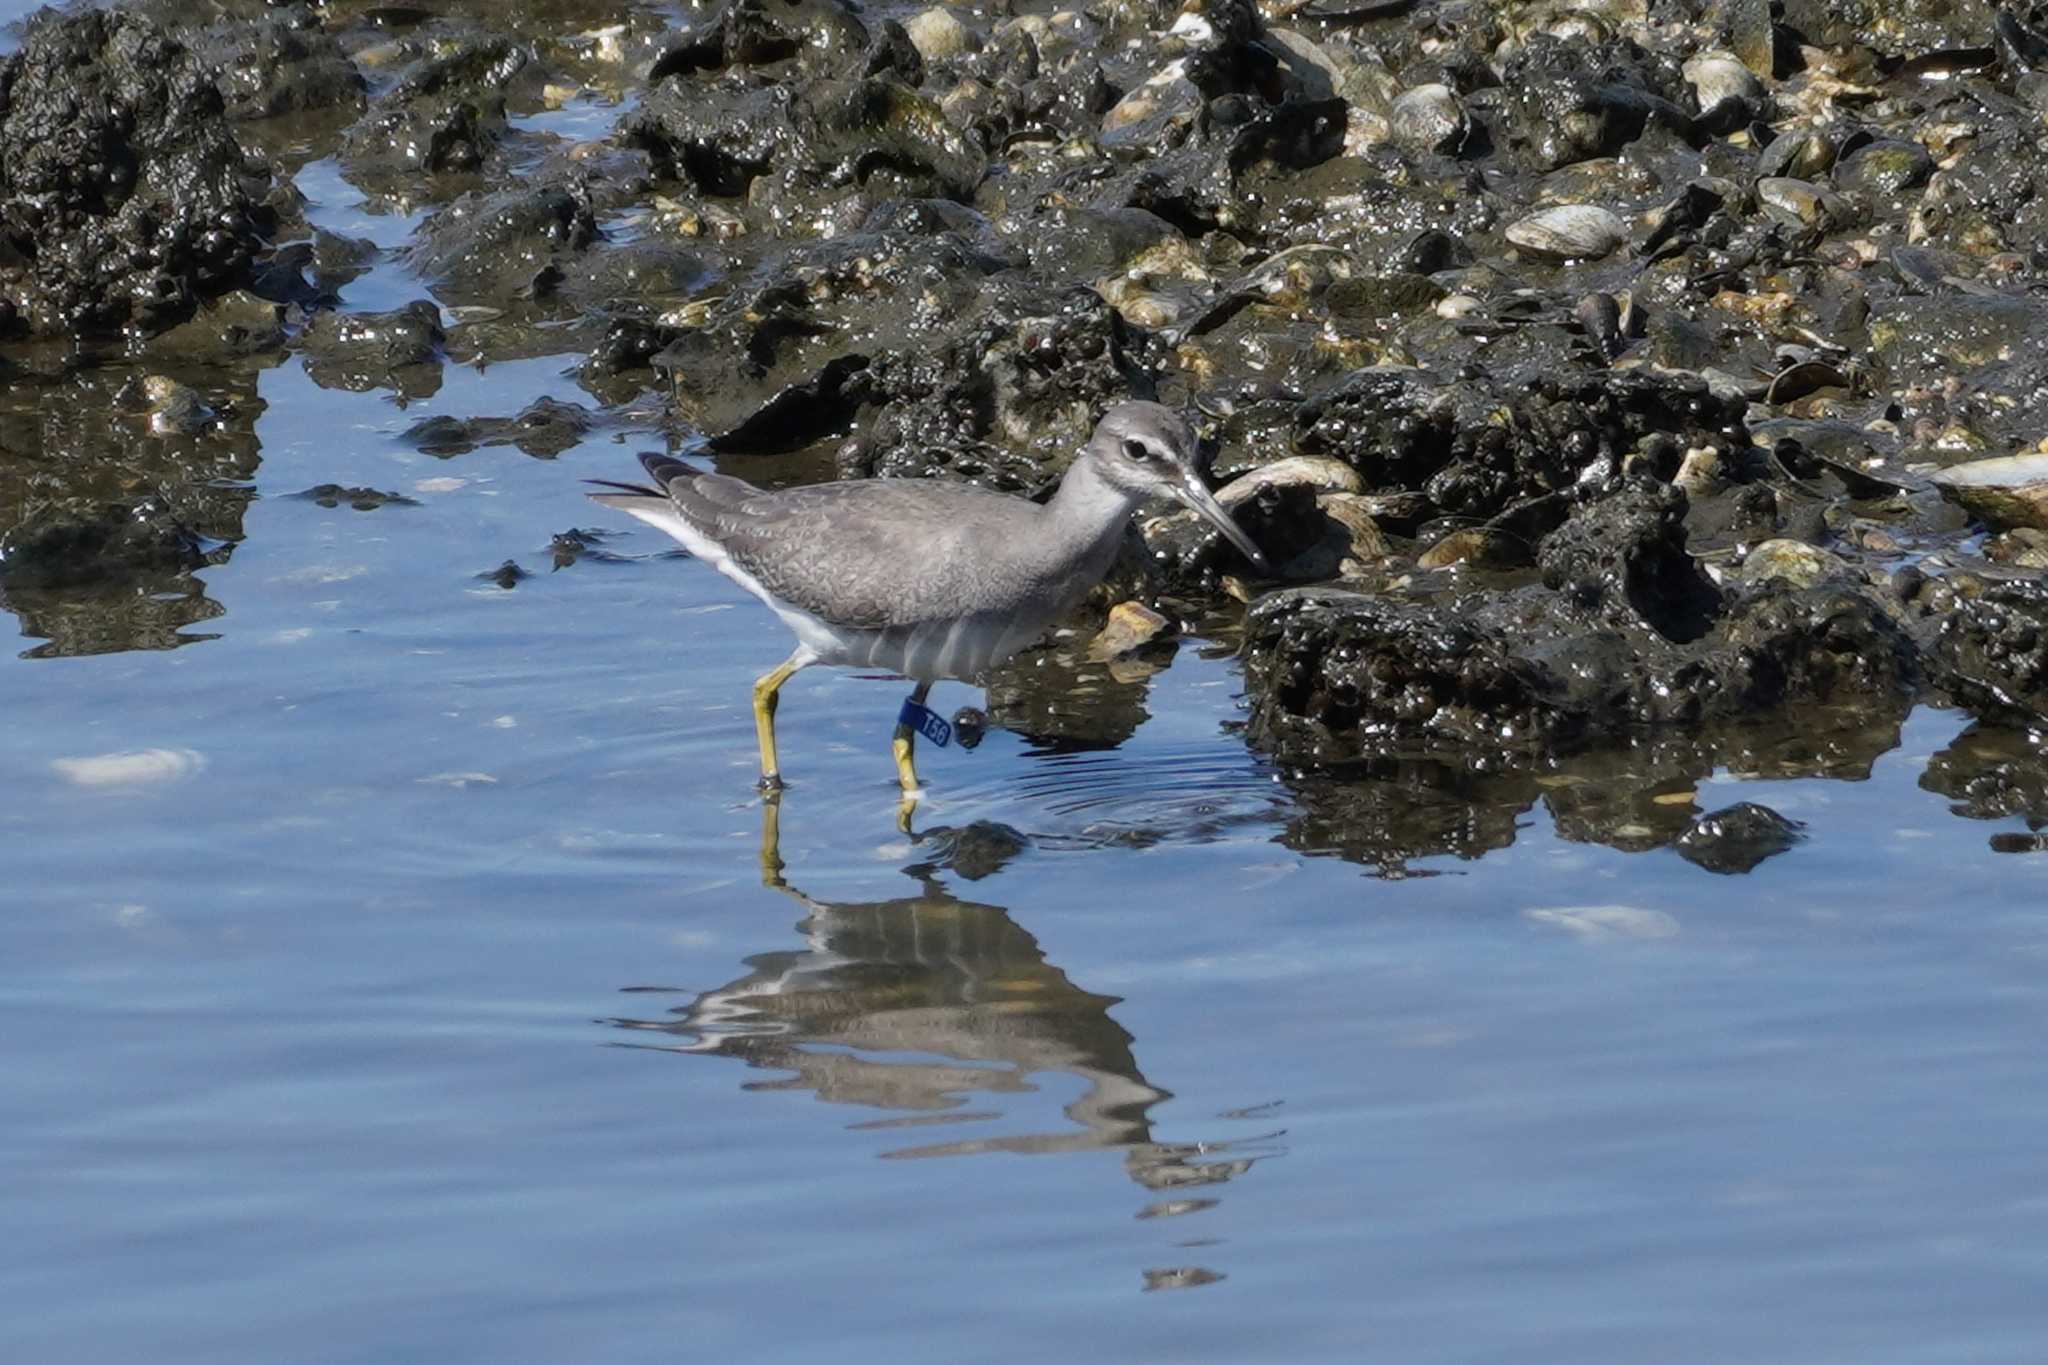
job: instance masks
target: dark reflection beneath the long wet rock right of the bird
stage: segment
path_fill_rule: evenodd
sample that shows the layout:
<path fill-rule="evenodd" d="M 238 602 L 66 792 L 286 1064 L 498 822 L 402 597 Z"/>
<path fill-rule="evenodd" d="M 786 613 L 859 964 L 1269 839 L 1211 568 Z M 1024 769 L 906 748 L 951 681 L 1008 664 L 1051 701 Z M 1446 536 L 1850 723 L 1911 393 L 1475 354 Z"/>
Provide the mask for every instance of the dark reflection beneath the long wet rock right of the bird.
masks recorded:
<path fill-rule="evenodd" d="M 1808 712 L 1806 720 L 1563 757 L 1450 751 L 1290 776 L 1300 812 L 1284 843 L 1401 874 L 1415 857 L 1481 857 L 1511 845 L 1540 802 L 1561 839 L 1647 851 L 1696 829 L 1706 814 L 1698 786 L 1718 769 L 1743 780 L 1858 782 L 1898 747 L 1901 716 Z"/>

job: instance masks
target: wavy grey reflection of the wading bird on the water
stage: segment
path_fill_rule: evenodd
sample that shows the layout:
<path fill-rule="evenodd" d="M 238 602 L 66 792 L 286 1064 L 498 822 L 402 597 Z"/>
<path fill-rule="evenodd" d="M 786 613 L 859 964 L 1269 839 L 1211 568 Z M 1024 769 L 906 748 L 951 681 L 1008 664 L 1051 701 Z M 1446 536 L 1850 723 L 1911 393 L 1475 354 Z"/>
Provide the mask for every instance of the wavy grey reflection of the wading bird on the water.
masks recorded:
<path fill-rule="evenodd" d="M 891 1115 L 856 1130 L 999 1119 L 999 1111 L 969 1107 L 971 1097 L 1032 1093 L 1034 1074 L 1065 1072 L 1083 1085 L 1065 1107 L 1071 1128 L 913 1142 L 885 1156 L 1116 1148 L 1133 1181 L 1176 1193 L 1139 1218 L 1212 1207 L 1214 1199 L 1188 1191 L 1231 1181 L 1280 1150 L 1272 1132 L 1233 1142 L 1153 1140 L 1149 1113 L 1167 1091 L 1145 1078 L 1130 1033 L 1110 1017 L 1118 999 L 1071 982 L 1004 907 L 946 890 L 942 872 L 975 880 L 999 870 L 1026 843 L 1016 831 L 977 823 L 911 833 L 926 853 L 905 870 L 915 894 L 831 902 L 782 878 L 778 819 L 776 802 L 766 802 L 762 882 L 805 909 L 801 945 L 748 958 L 745 976 L 668 1017 L 614 1019 L 643 1036 L 631 1046 L 737 1058 L 786 1072 L 750 1089 L 809 1091 Z M 1212 1275 L 1176 1283 L 1210 1283 Z"/>

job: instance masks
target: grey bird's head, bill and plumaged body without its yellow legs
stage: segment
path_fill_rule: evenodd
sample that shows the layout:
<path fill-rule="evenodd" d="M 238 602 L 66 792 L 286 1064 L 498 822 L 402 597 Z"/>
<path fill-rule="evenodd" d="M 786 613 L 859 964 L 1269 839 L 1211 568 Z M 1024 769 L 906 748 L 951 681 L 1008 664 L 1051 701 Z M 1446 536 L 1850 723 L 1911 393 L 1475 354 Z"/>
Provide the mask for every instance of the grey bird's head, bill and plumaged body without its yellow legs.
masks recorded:
<path fill-rule="evenodd" d="M 1120 403 L 1044 505 L 932 479 L 770 491 L 666 454 L 641 456 L 653 487 L 592 497 L 668 530 L 762 598 L 797 632 L 805 663 L 971 679 L 1087 596 L 1153 491 L 1221 518 L 1257 553 L 1208 501 L 1194 450 L 1180 413 Z"/>

